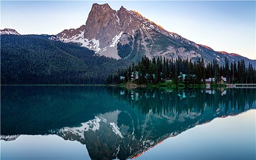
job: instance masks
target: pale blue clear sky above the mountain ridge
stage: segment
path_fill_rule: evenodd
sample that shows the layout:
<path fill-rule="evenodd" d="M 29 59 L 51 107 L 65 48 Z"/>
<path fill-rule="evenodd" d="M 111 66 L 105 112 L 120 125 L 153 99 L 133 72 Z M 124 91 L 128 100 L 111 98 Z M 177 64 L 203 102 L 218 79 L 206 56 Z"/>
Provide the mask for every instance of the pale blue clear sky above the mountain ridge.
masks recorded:
<path fill-rule="evenodd" d="M 0 28 L 12 28 L 20 34 L 55 35 L 85 25 L 94 3 L 108 3 L 116 11 L 123 5 L 197 44 L 256 59 L 255 0 L 0 0 Z"/>

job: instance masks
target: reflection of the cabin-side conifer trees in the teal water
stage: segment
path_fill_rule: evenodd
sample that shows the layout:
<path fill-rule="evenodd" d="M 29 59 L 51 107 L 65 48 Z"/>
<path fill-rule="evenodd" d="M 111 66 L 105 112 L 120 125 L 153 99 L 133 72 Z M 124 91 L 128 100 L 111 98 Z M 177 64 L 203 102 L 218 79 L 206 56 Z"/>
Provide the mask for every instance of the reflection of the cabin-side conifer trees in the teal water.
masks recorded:
<path fill-rule="evenodd" d="M 133 108 L 138 107 L 143 114 L 150 111 L 158 114 L 179 114 L 192 110 L 203 113 L 207 108 L 213 108 L 215 112 L 219 107 L 224 107 L 225 113 L 233 110 L 243 112 L 246 105 L 251 108 L 256 100 L 254 89 L 203 88 L 164 91 L 136 88 L 131 91 L 124 89 L 121 92 L 118 100 L 128 101 Z"/>

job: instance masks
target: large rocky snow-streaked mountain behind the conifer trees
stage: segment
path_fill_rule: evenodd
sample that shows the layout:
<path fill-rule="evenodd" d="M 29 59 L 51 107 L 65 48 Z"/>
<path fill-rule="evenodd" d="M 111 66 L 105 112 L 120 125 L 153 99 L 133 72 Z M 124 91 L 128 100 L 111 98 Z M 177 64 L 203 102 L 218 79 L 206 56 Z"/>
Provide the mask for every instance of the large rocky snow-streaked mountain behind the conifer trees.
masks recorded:
<path fill-rule="evenodd" d="M 157 58 L 165 56 L 174 59 L 198 60 L 206 63 L 216 59 L 224 64 L 245 59 L 256 67 L 256 60 L 247 59 L 237 54 L 223 54 L 212 48 L 194 43 L 180 35 L 168 32 L 153 21 L 136 11 L 128 11 L 123 6 L 118 11 L 108 4 L 93 4 L 85 25 L 77 29 L 64 30 L 56 35 L 61 41 L 80 43 L 81 46 L 94 50 L 99 55 L 115 59 L 139 61 L 142 56 Z"/>

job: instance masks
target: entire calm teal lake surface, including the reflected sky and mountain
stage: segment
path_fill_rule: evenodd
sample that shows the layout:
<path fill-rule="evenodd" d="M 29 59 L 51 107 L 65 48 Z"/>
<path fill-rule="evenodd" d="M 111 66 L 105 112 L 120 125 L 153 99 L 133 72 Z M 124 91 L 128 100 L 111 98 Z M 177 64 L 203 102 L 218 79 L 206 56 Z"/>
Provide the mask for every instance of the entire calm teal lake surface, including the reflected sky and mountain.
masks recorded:
<path fill-rule="evenodd" d="M 256 159 L 256 89 L 1 86 L 1 160 Z"/>

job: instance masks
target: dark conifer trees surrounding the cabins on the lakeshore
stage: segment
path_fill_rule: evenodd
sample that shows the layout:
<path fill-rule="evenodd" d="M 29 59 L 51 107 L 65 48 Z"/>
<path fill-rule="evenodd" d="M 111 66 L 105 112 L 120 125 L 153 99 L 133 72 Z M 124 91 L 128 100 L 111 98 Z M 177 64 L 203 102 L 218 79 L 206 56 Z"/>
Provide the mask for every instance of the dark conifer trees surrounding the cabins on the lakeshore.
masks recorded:
<path fill-rule="evenodd" d="M 225 65 L 219 65 L 216 59 L 213 59 L 213 63 L 204 63 L 204 59 L 198 59 L 192 62 L 190 59 L 168 59 L 162 58 L 149 59 L 146 56 L 142 57 L 138 65 L 134 63 L 127 69 L 118 69 L 118 71 L 109 75 L 106 79 L 107 84 L 117 85 L 123 82 L 131 80 L 132 73 L 139 73 L 139 79 L 136 80 L 137 84 L 162 83 L 165 80 L 173 80 L 178 83 L 178 76 L 181 74 L 187 75 L 185 82 L 187 84 L 202 84 L 205 79 L 215 78 L 215 80 L 224 76 L 227 79 L 227 83 L 256 83 L 256 69 L 249 63 L 248 67 L 245 67 L 245 60 L 234 61 L 230 63 L 225 58 Z M 146 76 L 147 75 L 147 76 Z M 155 78 L 154 76 L 155 75 Z M 121 76 L 125 77 L 121 80 Z M 146 77 L 145 77 L 146 76 Z"/>

